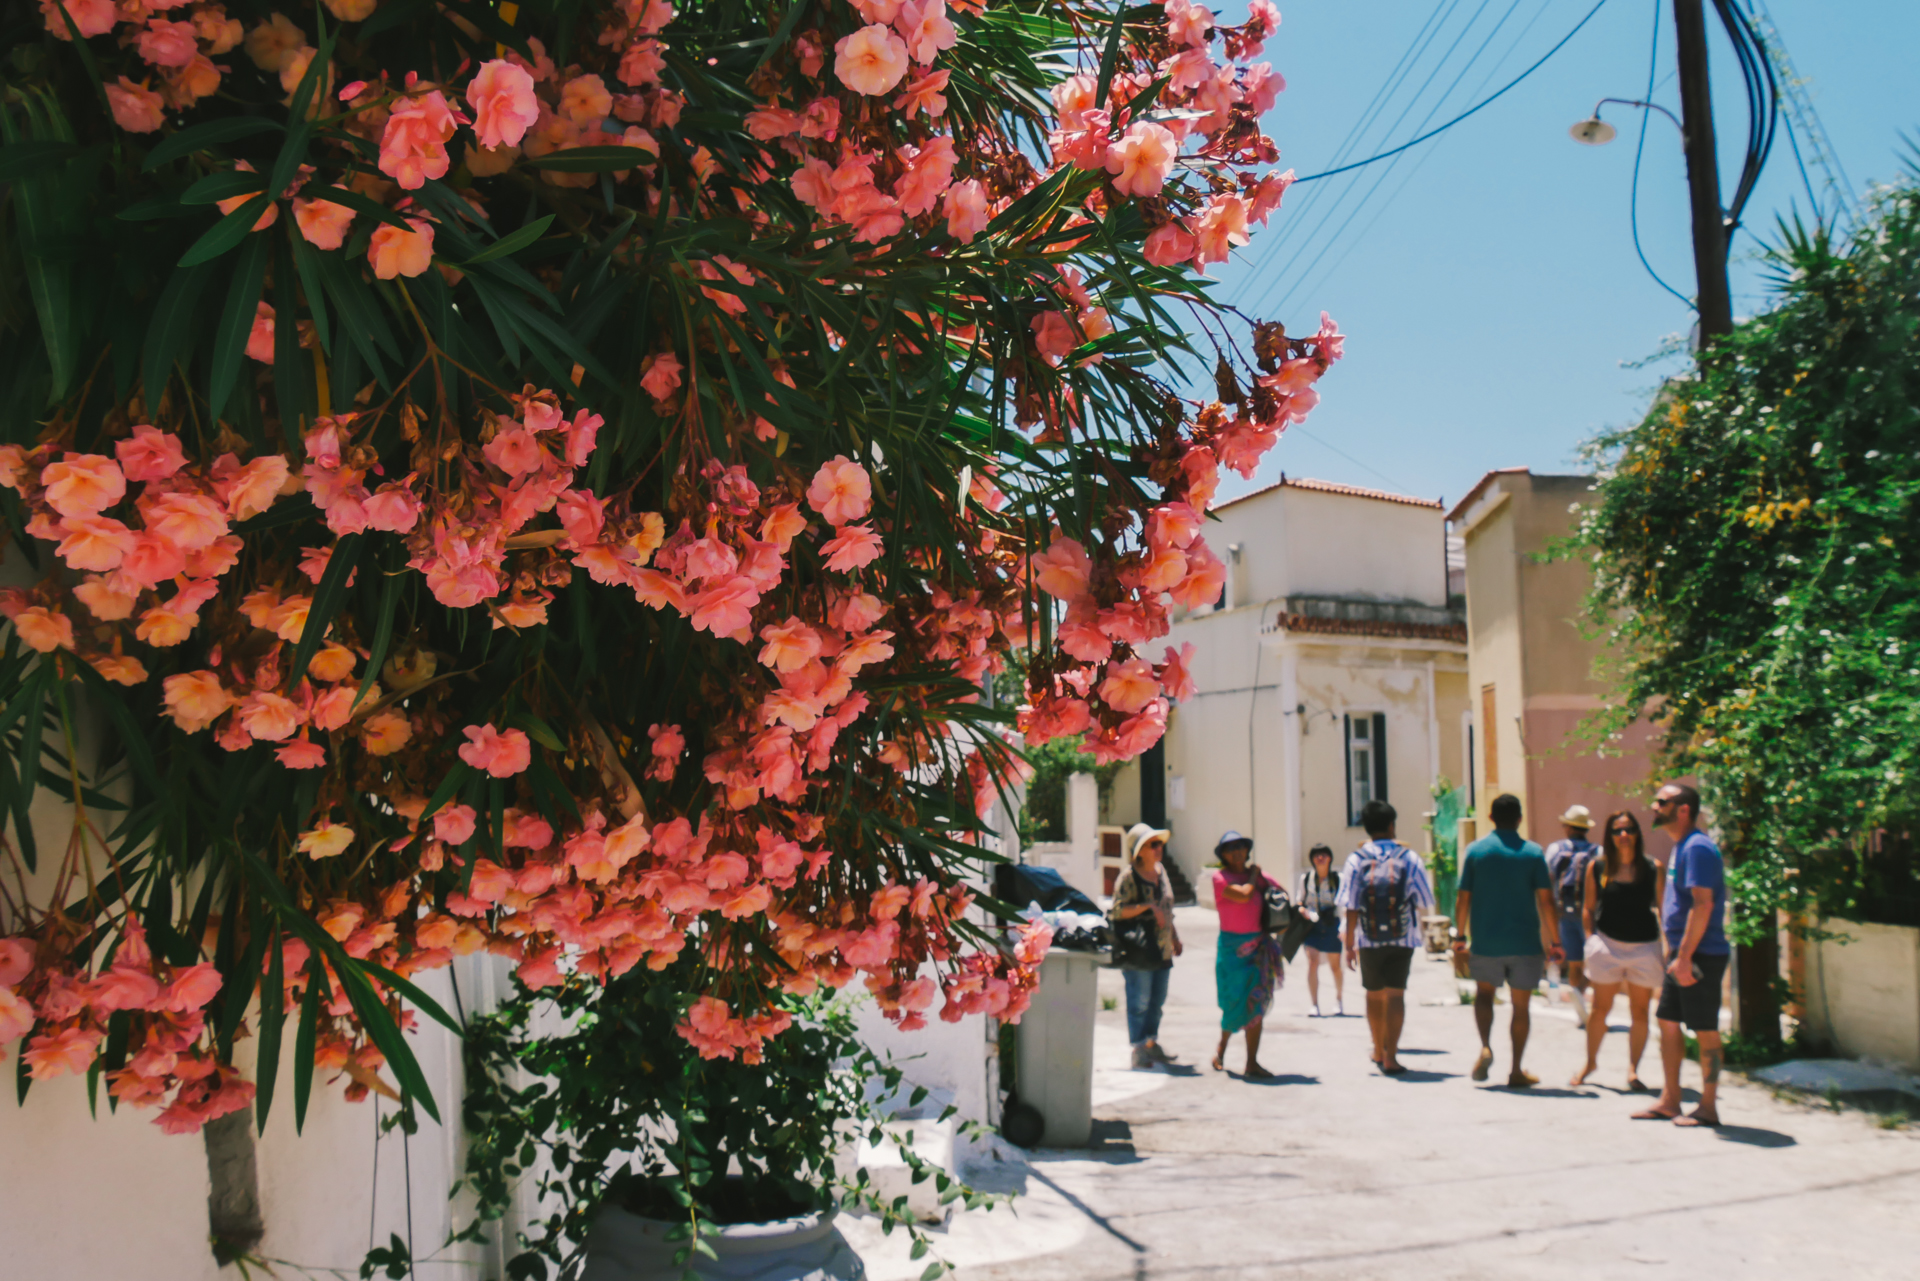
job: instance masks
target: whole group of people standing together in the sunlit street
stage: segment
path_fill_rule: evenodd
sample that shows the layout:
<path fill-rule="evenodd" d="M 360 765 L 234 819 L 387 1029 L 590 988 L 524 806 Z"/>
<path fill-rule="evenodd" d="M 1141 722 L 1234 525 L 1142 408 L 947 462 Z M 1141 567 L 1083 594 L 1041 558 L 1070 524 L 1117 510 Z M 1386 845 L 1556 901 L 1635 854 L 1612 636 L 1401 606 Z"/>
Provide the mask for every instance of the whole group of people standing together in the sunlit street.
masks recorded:
<path fill-rule="evenodd" d="M 1473 1079 L 1492 1076 L 1494 1006 L 1500 987 L 1507 987 L 1507 1085 L 1538 1085 L 1538 1077 L 1523 1066 L 1530 1006 L 1548 962 L 1557 962 L 1586 1029 L 1586 1064 L 1572 1085 L 1584 1085 L 1599 1070 L 1607 1014 L 1624 993 L 1630 1014 L 1628 1091 L 1651 1093 L 1640 1079 L 1649 1008 L 1661 1027 L 1661 1091 L 1634 1118 L 1718 1125 L 1720 983 L 1730 953 L 1726 876 L 1718 849 L 1699 830 L 1699 793 L 1686 784 L 1667 784 L 1653 797 L 1653 826 L 1674 839 L 1665 866 L 1647 855 L 1640 820 L 1630 810 L 1607 818 L 1596 845 L 1588 839 L 1592 814 L 1576 805 L 1561 814 L 1565 839 L 1549 849 L 1521 835 L 1519 797 L 1496 797 L 1490 816 L 1492 835 L 1475 841 L 1461 858 L 1452 920 L 1455 955 L 1475 983 L 1480 1052 Z M 1425 945 L 1423 918 L 1434 910 L 1427 866 L 1396 839 L 1396 826 L 1392 805 L 1369 801 L 1361 810 L 1367 841 L 1348 855 L 1338 872 L 1332 851 L 1315 845 L 1298 891 L 1288 899 L 1290 910 L 1304 912 L 1308 922 L 1296 941 L 1308 966 L 1313 1016 L 1327 1012 L 1321 968 L 1327 970 L 1336 1014 L 1346 1012 L 1344 970 L 1356 970 L 1365 991 L 1371 1058 L 1382 1076 L 1405 1072 L 1400 1033 L 1407 978 L 1415 951 Z M 1152 914 L 1152 947 L 1123 960 L 1135 1068 L 1175 1062 L 1160 1045 L 1167 976 L 1185 951 L 1164 866 L 1169 839 L 1169 832 L 1148 824 L 1127 832 L 1129 858 L 1114 885 L 1116 930 L 1123 920 Z M 1281 885 L 1260 870 L 1252 851 L 1254 841 L 1238 832 L 1221 835 L 1213 849 L 1219 860 L 1213 872 L 1219 912 L 1213 981 L 1221 1031 L 1212 1066 L 1215 1072 L 1227 1068 L 1227 1051 L 1240 1033 L 1246 1041 L 1244 1076 L 1258 1081 L 1273 1076 L 1260 1064 L 1260 1039 L 1284 978 L 1284 960 L 1279 937 L 1263 922 L 1267 899 Z M 1584 989 L 1592 989 L 1592 1012 Z M 1682 1110 L 1680 1095 L 1686 1033 L 1699 1043 L 1701 1091 L 1693 1112 Z"/>

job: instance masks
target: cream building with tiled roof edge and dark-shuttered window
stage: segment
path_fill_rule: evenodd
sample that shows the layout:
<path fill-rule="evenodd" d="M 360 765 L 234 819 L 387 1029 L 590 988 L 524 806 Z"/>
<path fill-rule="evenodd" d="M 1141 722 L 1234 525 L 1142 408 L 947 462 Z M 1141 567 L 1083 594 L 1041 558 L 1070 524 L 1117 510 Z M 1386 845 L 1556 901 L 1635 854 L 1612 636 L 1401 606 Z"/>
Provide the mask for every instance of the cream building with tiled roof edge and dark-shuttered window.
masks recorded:
<path fill-rule="evenodd" d="M 1311 845 L 1344 860 L 1365 841 L 1373 797 L 1425 849 L 1434 778 L 1467 768 L 1467 628 L 1448 599 L 1440 503 L 1283 476 L 1213 515 L 1206 538 L 1227 588 L 1175 615 L 1167 638 L 1194 645 L 1198 693 L 1116 780 L 1110 818 L 1171 828 L 1202 901 L 1229 828 L 1286 883 Z"/>

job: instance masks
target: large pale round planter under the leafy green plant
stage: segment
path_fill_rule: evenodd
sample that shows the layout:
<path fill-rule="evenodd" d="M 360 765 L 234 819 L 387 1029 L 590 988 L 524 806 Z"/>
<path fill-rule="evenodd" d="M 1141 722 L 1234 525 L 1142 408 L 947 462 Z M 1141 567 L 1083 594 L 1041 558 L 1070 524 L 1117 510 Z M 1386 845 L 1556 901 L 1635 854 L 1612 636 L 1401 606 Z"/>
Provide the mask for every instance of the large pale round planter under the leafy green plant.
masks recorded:
<path fill-rule="evenodd" d="M 864 1281 L 866 1266 L 835 1225 L 835 1210 L 801 1214 L 772 1223 L 735 1223 L 707 1237 L 720 1258 L 697 1258 L 703 1281 Z M 601 1210 L 588 1237 L 588 1266 L 580 1281 L 680 1281 L 674 1254 L 685 1241 L 668 1241 L 678 1223 L 643 1220 L 626 1210 Z"/>

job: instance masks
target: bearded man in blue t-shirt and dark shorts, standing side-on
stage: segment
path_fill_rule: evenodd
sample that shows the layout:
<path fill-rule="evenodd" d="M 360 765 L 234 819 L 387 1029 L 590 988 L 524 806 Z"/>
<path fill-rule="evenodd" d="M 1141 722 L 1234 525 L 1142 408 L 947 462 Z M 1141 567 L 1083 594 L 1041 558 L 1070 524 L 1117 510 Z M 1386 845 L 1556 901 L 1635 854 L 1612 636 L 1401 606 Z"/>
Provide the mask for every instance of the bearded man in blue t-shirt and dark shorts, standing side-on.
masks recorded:
<path fill-rule="evenodd" d="M 1732 953 L 1726 943 L 1726 864 L 1699 830 L 1699 793 L 1686 784 L 1667 784 L 1653 795 L 1653 822 L 1674 837 L 1667 897 L 1661 903 L 1668 964 L 1655 1010 L 1667 1083 L 1653 1106 L 1634 1112 L 1634 1120 L 1718 1125 L 1720 983 Z M 1680 1112 L 1680 1066 L 1686 1062 L 1682 1024 L 1699 1039 L 1699 1106 L 1688 1116 Z"/>

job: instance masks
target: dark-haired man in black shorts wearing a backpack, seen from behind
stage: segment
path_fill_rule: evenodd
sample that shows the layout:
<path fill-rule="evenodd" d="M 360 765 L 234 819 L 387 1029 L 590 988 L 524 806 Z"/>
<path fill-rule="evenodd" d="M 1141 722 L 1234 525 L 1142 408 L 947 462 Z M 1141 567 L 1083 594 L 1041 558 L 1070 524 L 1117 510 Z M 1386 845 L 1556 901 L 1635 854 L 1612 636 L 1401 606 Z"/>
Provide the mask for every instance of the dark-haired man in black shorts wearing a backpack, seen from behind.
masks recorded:
<path fill-rule="evenodd" d="M 1386 801 L 1367 801 L 1359 826 L 1369 839 L 1348 855 L 1340 872 L 1346 968 L 1359 970 L 1359 985 L 1367 989 L 1373 1062 L 1384 1076 L 1405 1072 L 1396 1054 L 1407 1020 L 1407 976 L 1423 943 L 1421 910 L 1434 905 L 1425 864 L 1394 839 L 1398 816 Z"/>

